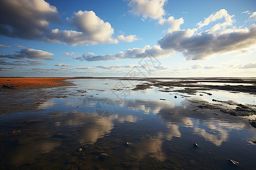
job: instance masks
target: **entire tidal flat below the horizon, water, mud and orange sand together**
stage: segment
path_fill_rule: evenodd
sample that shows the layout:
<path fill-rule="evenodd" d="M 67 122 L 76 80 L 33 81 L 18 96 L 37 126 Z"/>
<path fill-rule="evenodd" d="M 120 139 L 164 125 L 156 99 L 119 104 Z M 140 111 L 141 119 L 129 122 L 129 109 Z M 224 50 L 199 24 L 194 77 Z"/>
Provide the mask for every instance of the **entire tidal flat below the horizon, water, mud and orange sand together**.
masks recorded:
<path fill-rule="evenodd" d="M 22 79 L 0 78 L 0 169 L 256 166 L 256 79 Z"/>

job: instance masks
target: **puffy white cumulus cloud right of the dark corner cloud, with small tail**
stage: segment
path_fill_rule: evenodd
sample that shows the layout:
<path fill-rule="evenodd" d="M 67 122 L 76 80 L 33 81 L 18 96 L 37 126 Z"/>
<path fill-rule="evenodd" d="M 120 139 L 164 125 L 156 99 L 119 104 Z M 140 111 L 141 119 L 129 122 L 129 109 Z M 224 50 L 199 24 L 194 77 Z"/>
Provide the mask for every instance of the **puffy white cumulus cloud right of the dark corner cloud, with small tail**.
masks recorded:
<path fill-rule="evenodd" d="M 71 46 L 95 45 L 95 44 L 117 44 L 121 41 L 132 42 L 137 40 L 134 35 L 118 36 L 114 39 L 114 28 L 108 22 L 100 19 L 93 11 L 78 11 L 73 14 L 68 22 L 76 27 L 77 31 L 52 29 L 44 41 L 50 43 L 64 43 Z"/>

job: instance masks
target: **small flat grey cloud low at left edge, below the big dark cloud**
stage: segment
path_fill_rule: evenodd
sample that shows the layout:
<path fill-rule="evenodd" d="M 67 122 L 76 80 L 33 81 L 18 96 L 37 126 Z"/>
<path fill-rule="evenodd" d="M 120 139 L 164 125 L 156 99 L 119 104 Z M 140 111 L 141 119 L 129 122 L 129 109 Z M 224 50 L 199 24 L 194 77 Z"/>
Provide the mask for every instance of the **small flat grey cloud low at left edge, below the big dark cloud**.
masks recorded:
<path fill-rule="evenodd" d="M 54 54 L 49 52 L 44 52 L 43 50 L 36 50 L 36 49 L 22 49 L 19 52 L 16 51 L 18 54 L 8 54 L 8 55 L 0 55 L 0 57 L 3 58 L 12 58 L 12 59 L 46 59 L 46 60 L 52 60 L 53 58 L 50 56 L 53 56 Z"/>

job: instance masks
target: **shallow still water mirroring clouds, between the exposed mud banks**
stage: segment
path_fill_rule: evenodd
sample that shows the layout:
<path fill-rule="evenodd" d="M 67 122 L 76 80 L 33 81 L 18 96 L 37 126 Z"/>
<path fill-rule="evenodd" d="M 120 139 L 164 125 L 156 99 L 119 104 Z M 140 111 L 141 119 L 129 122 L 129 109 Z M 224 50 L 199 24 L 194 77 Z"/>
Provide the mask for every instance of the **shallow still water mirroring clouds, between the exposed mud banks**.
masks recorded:
<path fill-rule="evenodd" d="M 0 115 L 0 169 L 255 168 L 256 129 L 247 122 L 255 116 L 234 117 L 189 101 L 254 104 L 253 95 L 184 97 L 157 87 L 130 91 L 140 82 L 128 80 L 71 81 L 77 86 L 63 89 L 68 97 L 53 97 L 42 110 Z M 120 84 L 127 88 L 112 90 Z"/>

